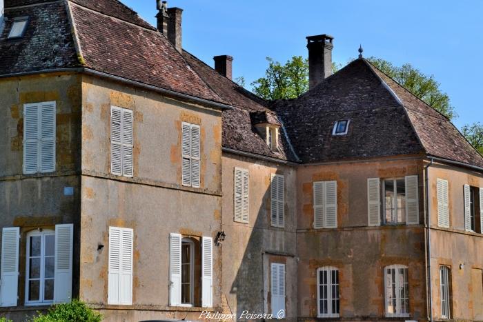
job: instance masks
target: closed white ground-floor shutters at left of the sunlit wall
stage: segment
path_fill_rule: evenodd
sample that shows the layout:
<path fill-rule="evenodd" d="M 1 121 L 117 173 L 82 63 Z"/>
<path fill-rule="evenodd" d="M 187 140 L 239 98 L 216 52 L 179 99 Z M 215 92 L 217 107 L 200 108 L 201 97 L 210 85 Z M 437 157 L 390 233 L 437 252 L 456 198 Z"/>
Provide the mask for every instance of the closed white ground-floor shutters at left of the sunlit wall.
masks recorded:
<path fill-rule="evenodd" d="M 108 304 L 132 304 L 133 230 L 109 228 Z"/>

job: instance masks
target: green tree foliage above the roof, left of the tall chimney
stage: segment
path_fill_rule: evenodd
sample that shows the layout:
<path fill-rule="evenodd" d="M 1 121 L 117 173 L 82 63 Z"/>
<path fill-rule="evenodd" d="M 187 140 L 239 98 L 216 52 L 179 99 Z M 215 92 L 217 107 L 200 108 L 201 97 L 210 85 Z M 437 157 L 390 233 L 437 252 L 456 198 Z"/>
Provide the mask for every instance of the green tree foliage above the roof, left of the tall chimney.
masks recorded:
<path fill-rule="evenodd" d="M 263 99 L 295 99 L 308 90 L 308 61 L 294 56 L 285 65 L 267 57 L 265 77 L 251 85 L 253 92 Z"/>

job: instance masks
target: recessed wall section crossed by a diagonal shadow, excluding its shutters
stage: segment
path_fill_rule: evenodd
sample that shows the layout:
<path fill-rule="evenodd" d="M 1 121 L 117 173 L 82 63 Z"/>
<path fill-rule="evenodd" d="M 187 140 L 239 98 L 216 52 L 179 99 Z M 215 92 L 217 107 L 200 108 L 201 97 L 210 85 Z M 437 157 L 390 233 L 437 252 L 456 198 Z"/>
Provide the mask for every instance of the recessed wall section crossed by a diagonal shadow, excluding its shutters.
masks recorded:
<path fill-rule="evenodd" d="M 234 221 L 235 167 L 249 172 L 249 222 Z M 285 228 L 270 224 L 270 175 L 284 175 Z M 225 312 L 272 313 L 270 264 L 286 264 L 286 316 L 297 319 L 296 170 L 235 154 L 223 155 L 223 296 Z"/>

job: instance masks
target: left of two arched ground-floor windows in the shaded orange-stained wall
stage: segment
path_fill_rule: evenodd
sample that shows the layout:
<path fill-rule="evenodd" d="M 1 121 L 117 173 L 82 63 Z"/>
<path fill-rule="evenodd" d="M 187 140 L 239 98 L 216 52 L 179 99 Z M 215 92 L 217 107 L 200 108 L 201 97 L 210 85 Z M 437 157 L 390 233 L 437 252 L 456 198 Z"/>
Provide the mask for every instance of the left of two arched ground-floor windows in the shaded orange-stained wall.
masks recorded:
<path fill-rule="evenodd" d="M 339 299 L 339 270 L 330 267 L 319 268 L 317 270 L 317 317 L 339 317 Z"/>

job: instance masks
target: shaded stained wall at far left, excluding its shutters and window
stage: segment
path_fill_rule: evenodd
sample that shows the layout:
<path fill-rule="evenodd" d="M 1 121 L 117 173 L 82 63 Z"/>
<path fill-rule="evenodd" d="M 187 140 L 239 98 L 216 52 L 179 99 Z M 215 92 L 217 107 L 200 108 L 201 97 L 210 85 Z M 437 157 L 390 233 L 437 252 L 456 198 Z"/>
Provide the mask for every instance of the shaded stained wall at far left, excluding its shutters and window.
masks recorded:
<path fill-rule="evenodd" d="M 56 171 L 23 174 L 23 105 L 55 101 Z M 19 306 L 25 300 L 26 233 L 74 223 L 74 269 L 79 274 L 81 81 L 49 73 L 0 79 L 0 229 L 21 228 Z M 72 187 L 73 194 L 64 194 Z M 74 278 L 73 295 L 78 293 Z M 25 312 L 20 311 L 22 316 Z"/>

